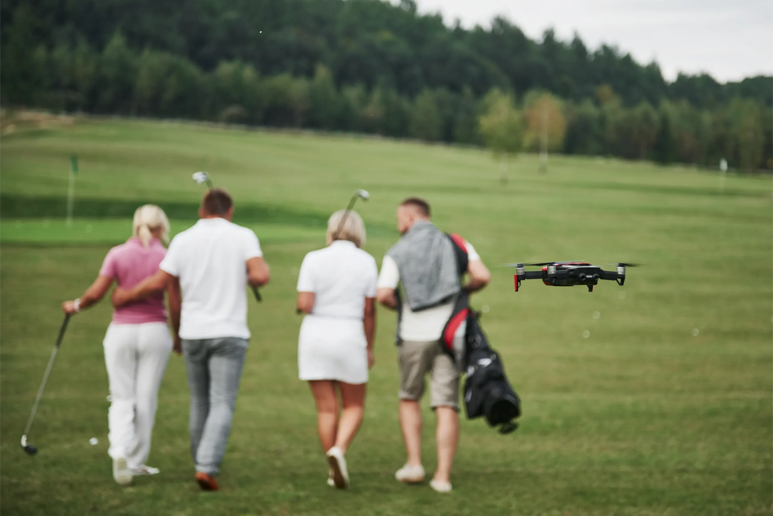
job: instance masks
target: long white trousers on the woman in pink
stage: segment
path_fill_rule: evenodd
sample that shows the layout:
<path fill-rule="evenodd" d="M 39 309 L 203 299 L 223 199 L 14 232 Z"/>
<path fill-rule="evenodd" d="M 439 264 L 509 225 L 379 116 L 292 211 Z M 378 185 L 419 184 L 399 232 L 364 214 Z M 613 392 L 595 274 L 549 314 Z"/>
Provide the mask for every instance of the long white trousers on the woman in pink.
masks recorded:
<path fill-rule="evenodd" d="M 131 469 L 138 469 L 150 453 L 158 388 L 172 337 L 166 323 L 111 324 L 103 345 L 111 395 L 107 453 L 114 459 L 125 457 Z"/>

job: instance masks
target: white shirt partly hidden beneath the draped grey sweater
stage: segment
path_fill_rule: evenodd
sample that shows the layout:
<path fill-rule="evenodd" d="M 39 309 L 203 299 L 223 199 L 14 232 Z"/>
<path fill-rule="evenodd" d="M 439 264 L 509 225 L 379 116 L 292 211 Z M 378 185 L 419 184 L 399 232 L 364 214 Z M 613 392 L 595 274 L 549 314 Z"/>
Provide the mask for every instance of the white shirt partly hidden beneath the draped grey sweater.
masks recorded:
<path fill-rule="evenodd" d="M 466 248 L 469 261 L 481 259 L 472 244 L 466 242 Z M 388 255 L 384 256 L 377 288 L 397 289 L 399 284 L 400 270 L 397 268 L 397 262 Z M 418 312 L 414 312 L 407 302 L 403 302 L 403 310 L 400 313 L 400 338 L 419 342 L 438 340 L 443 335 L 443 328 L 451 319 L 453 312 L 454 302 L 452 301 Z"/>

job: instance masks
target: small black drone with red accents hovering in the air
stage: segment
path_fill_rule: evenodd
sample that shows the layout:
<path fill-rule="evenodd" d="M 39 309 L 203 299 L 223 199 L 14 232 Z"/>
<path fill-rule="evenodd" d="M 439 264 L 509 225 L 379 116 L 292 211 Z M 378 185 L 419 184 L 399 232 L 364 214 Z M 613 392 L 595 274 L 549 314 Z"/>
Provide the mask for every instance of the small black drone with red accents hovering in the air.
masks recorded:
<path fill-rule="evenodd" d="M 585 261 L 545 261 L 543 263 L 511 263 L 504 267 L 516 268 L 516 292 L 524 279 L 541 279 L 545 285 L 554 287 L 572 287 L 574 285 L 587 286 L 588 292 L 593 292 L 598 280 L 608 279 L 618 285 L 625 283 L 625 268 L 637 267 L 636 264 L 618 263 L 616 272 L 604 271 L 598 265 L 591 265 Z M 526 267 L 542 266 L 541 271 L 527 271 Z"/>

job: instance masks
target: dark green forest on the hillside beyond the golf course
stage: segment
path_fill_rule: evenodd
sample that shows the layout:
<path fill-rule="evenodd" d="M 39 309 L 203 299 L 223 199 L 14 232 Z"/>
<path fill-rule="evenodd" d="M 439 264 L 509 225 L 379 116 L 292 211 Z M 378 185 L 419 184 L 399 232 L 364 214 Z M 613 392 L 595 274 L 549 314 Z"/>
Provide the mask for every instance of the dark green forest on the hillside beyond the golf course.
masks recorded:
<path fill-rule="evenodd" d="M 773 169 L 773 77 L 656 63 L 412 0 L 0 0 L 0 105 Z"/>

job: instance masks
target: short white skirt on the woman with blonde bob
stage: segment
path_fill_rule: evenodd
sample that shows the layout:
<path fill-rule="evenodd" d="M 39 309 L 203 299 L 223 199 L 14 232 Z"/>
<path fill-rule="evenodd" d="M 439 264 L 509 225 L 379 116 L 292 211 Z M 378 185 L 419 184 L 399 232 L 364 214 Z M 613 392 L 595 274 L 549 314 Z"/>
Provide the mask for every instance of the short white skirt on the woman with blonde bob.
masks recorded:
<path fill-rule="evenodd" d="M 298 337 L 298 378 L 368 381 L 368 352 L 363 321 L 308 315 Z"/>

